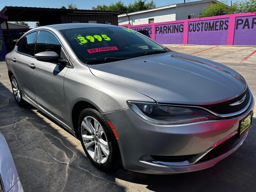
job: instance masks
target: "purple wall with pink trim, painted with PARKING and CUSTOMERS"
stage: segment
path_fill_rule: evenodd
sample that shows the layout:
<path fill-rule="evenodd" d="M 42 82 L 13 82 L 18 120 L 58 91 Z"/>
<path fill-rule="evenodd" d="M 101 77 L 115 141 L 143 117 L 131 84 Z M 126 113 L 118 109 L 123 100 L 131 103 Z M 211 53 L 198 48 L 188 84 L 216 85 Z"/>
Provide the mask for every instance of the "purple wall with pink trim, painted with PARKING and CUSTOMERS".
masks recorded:
<path fill-rule="evenodd" d="M 256 46 L 256 12 L 121 26 L 139 31 L 161 44 Z"/>

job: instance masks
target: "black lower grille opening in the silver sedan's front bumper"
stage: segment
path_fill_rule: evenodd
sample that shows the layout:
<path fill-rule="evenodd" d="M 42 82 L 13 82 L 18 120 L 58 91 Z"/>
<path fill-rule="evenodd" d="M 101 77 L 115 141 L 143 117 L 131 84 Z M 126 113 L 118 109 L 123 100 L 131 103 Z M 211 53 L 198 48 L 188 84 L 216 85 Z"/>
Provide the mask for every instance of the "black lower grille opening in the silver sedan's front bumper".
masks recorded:
<path fill-rule="evenodd" d="M 210 150 L 210 152 L 208 152 L 205 156 L 203 156 L 198 162 L 204 162 L 228 152 L 228 150 L 232 149 L 236 144 L 238 144 L 238 142 L 241 139 L 242 137 L 239 138 L 237 134 L 235 134 L 228 140 L 224 141 L 223 143 L 219 144 L 218 146 Z"/>

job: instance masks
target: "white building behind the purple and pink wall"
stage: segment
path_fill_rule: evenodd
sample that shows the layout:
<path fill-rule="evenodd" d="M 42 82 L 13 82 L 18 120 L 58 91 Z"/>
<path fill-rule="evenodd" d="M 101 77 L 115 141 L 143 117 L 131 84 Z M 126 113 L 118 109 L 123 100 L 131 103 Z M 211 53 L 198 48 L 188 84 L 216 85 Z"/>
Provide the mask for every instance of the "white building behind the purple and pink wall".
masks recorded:
<path fill-rule="evenodd" d="M 202 10 L 204 7 L 207 8 L 210 3 L 217 2 L 218 1 L 216 0 L 201 0 L 173 4 L 128 14 L 120 14 L 118 15 L 118 24 L 129 24 L 130 21 L 130 25 L 141 25 L 198 18 L 198 15 L 202 14 Z"/>

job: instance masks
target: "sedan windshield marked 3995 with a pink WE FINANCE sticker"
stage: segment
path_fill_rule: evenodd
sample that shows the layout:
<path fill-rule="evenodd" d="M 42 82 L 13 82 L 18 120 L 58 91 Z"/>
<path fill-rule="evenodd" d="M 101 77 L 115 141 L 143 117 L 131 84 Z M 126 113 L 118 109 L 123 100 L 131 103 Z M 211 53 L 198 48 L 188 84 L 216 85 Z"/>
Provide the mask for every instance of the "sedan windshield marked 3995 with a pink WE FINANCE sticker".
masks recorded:
<path fill-rule="evenodd" d="M 123 27 L 60 30 L 82 62 L 98 64 L 169 52 L 142 34 Z"/>

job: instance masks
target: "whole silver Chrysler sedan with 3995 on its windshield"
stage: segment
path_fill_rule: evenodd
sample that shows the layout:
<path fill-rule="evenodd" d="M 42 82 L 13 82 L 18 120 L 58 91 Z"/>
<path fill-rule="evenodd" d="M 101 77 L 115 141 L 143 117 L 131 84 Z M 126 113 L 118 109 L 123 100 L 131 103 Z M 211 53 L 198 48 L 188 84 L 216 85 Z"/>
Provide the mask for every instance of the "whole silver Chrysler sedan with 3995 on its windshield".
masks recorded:
<path fill-rule="evenodd" d="M 208 168 L 234 152 L 252 125 L 254 98 L 240 74 L 128 28 L 34 28 L 6 64 L 16 102 L 74 134 L 102 171 Z"/>

